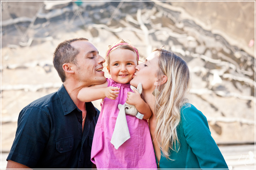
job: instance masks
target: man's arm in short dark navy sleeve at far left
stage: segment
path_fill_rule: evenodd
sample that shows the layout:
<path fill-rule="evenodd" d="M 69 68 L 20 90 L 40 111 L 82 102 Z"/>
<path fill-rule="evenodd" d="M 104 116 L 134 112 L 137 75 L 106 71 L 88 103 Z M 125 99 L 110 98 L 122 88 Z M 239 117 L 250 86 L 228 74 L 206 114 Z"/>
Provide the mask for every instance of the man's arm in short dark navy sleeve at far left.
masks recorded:
<path fill-rule="evenodd" d="M 49 118 L 40 108 L 28 106 L 22 109 L 15 139 L 6 158 L 7 168 L 15 168 L 18 165 L 35 168 L 43 156 L 42 152 L 49 140 L 49 134 Z"/>

